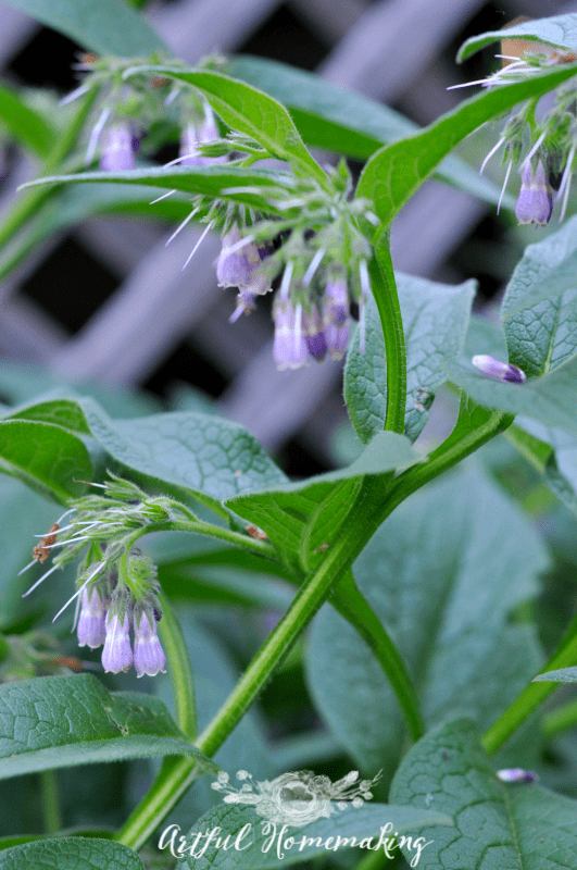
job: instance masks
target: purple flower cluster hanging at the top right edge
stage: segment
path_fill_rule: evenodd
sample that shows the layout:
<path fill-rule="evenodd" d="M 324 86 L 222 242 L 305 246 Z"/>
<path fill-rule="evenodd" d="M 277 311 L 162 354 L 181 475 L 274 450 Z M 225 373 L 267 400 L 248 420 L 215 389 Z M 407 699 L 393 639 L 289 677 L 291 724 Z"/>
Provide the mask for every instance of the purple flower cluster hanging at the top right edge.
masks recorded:
<path fill-rule="evenodd" d="M 499 54 L 507 61 L 501 70 L 485 79 L 468 84 L 496 87 L 523 82 L 541 70 L 564 63 L 574 63 L 573 52 L 551 51 L 549 53 L 525 53 L 523 58 Z M 456 87 L 464 87 L 457 85 Z M 537 100 L 529 100 L 513 112 L 506 121 L 497 145 L 489 151 L 481 165 L 481 173 L 488 160 L 503 148 L 503 163 L 506 163 L 505 179 L 499 199 L 498 212 L 506 189 L 511 170 L 518 166 L 520 191 L 515 214 L 519 224 L 544 226 L 551 220 L 555 202 L 561 202 L 560 222 L 567 211 L 570 179 L 575 171 L 577 153 L 577 113 L 575 111 L 577 88 L 569 79 L 555 91 L 553 108 L 540 121 L 536 120 Z M 523 156 L 524 135 L 529 134 L 529 148 Z M 559 189 L 553 195 L 552 183 Z"/>

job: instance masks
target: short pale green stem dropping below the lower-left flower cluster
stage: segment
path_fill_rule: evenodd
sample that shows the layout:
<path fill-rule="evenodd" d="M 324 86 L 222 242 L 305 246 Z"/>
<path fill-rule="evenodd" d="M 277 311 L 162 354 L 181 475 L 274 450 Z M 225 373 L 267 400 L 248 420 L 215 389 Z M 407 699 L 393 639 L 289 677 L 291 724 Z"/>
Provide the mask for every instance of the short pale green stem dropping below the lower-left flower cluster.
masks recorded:
<path fill-rule="evenodd" d="M 166 669 L 173 684 L 176 724 L 188 739 L 197 736 L 195 678 L 186 648 L 185 636 L 174 608 L 165 595 L 160 595 L 162 619 L 159 634 L 166 654 Z"/>

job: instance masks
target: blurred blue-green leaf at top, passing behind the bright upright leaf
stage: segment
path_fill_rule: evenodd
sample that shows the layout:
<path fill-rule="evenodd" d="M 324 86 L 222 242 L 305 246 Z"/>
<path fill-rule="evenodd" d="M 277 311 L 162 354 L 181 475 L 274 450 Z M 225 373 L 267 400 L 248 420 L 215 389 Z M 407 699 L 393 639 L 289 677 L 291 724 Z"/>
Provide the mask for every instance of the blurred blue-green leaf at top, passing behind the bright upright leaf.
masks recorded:
<path fill-rule="evenodd" d="M 226 70 L 286 105 L 304 141 L 315 148 L 366 160 L 384 144 L 418 130 L 388 105 L 286 63 L 240 55 L 230 58 Z M 499 187 L 459 158 L 446 158 L 436 176 L 486 202 L 499 200 Z M 507 198 L 506 207 L 514 208 Z"/>

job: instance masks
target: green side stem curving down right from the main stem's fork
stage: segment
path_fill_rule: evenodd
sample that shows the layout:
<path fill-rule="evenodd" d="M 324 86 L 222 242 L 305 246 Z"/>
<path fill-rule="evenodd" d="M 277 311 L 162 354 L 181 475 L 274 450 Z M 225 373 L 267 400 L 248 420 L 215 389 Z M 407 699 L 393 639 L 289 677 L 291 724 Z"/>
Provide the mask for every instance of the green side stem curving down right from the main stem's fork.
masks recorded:
<path fill-rule="evenodd" d="M 418 698 L 409 671 L 385 626 L 356 587 L 350 571 L 337 584 L 330 600 L 375 654 L 397 695 L 397 700 L 409 726 L 409 733 L 413 741 L 418 741 L 425 733 L 425 729 L 418 709 Z"/>

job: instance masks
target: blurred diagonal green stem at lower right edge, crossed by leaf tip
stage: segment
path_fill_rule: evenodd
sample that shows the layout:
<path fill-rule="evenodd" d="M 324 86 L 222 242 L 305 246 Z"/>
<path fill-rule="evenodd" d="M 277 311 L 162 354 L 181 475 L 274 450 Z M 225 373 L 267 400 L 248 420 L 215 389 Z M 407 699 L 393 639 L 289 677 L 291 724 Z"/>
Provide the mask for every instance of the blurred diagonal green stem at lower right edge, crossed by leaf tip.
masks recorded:
<path fill-rule="evenodd" d="M 577 617 L 565 633 L 559 649 L 540 673 L 556 671 L 560 668 L 572 668 L 575 664 L 577 664 Z M 559 683 L 530 683 L 485 733 L 482 745 L 487 751 L 497 751 L 556 688 L 559 688 Z"/>

